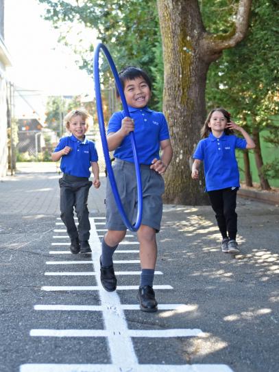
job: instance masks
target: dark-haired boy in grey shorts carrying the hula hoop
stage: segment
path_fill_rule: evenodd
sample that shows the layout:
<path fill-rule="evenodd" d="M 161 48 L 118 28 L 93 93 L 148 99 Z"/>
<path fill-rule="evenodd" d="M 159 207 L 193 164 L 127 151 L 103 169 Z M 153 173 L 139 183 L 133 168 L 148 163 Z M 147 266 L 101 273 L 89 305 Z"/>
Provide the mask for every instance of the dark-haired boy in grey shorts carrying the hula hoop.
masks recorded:
<path fill-rule="evenodd" d="M 143 219 L 137 231 L 141 259 L 138 300 L 141 310 L 156 312 L 157 301 L 152 287 L 157 258 L 156 233 L 160 230 L 162 194 L 165 191 L 161 174 L 167 170 L 171 161 L 171 141 L 165 116 L 147 106 L 151 97 L 151 82 L 145 71 L 127 67 L 119 73 L 119 78 L 131 117 L 125 117 L 124 111 L 112 115 L 108 124 L 108 148 L 114 151 L 114 176 L 123 208 L 128 219 L 134 222 L 137 186 L 132 146 L 128 137 L 134 131 L 143 186 Z M 111 292 L 117 288 L 112 255 L 125 237 L 126 227 L 117 210 L 109 181 L 106 189 L 106 224 L 108 232 L 102 240 L 100 257 L 101 283 Z"/>

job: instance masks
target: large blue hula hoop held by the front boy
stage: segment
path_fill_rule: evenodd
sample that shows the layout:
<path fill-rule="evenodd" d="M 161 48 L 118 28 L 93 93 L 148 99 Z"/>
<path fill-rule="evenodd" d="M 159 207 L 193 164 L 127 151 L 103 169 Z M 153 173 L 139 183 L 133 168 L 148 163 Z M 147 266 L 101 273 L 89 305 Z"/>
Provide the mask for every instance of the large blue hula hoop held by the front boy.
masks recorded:
<path fill-rule="evenodd" d="M 100 49 L 102 49 L 104 51 L 104 54 L 105 54 L 105 56 L 108 60 L 108 63 L 110 65 L 110 69 L 111 69 L 111 71 L 114 75 L 114 80 L 117 84 L 117 89 L 118 89 L 120 97 L 121 97 L 121 101 L 122 101 L 123 109 L 124 109 L 124 112 L 125 112 L 125 116 L 130 117 L 130 113 L 129 113 L 128 104 L 126 102 L 125 95 L 124 95 L 124 92 L 123 92 L 123 89 L 122 89 L 122 86 L 121 86 L 121 82 L 120 82 L 120 79 L 119 79 L 117 69 L 116 69 L 116 67 L 114 65 L 114 62 L 112 60 L 112 56 L 110 56 L 110 52 L 108 51 L 107 47 L 104 44 L 99 43 L 97 45 L 96 49 L 95 49 L 94 64 L 93 65 L 94 65 L 94 81 L 95 81 L 97 117 L 98 117 L 98 121 L 99 121 L 99 130 L 100 130 L 100 134 L 101 134 L 101 143 L 102 143 L 102 146 L 103 146 L 104 158 L 105 158 L 105 161 L 106 161 L 106 168 L 107 168 L 107 171 L 108 171 L 108 177 L 110 179 L 110 185 L 112 187 L 114 200 L 117 204 L 117 208 L 119 210 L 121 218 L 122 218 L 122 220 L 123 220 L 123 222 L 124 222 L 124 224 L 125 224 L 125 226 L 127 227 L 128 230 L 137 231 L 139 226 L 141 226 L 141 219 L 142 219 L 142 216 L 143 216 L 143 191 L 142 191 L 142 187 L 141 187 L 141 169 L 140 169 L 140 165 L 138 163 L 138 155 L 137 155 L 137 152 L 136 152 L 136 141 L 135 141 L 135 138 L 134 138 L 134 132 L 130 132 L 129 136 L 130 136 L 130 140 L 131 140 L 131 144 L 132 144 L 132 151 L 133 151 L 133 156 L 134 156 L 134 165 L 135 165 L 135 169 L 136 169 L 136 184 L 137 184 L 137 187 L 138 187 L 138 211 L 137 211 L 137 215 L 136 215 L 136 222 L 135 222 L 134 225 L 132 225 L 130 223 L 130 221 L 128 220 L 128 218 L 126 216 L 126 213 L 124 211 L 124 208 L 123 208 L 123 205 L 122 205 L 122 202 L 121 202 L 121 198 L 119 196 L 119 191 L 117 189 L 117 183 L 115 182 L 114 173 L 113 173 L 113 170 L 112 170 L 112 165 L 110 163 L 110 154 L 109 154 L 109 151 L 108 151 L 108 141 L 106 139 L 106 129 L 105 129 L 105 123 L 104 123 L 103 105 L 102 105 L 102 102 L 101 102 L 101 86 L 100 86 L 100 75 L 99 75 L 99 52 L 100 52 Z"/>

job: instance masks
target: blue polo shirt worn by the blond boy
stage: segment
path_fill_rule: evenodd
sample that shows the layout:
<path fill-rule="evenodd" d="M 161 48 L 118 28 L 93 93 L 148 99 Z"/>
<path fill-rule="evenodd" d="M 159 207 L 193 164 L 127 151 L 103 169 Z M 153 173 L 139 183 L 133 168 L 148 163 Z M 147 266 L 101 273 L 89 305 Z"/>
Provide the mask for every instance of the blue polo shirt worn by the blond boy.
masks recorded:
<path fill-rule="evenodd" d="M 62 172 L 71 176 L 89 178 L 91 162 L 98 161 L 95 143 L 86 137 L 84 137 L 84 141 L 80 141 L 71 135 L 71 137 L 62 137 L 54 152 L 62 150 L 65 146 L 69 146 L 72 150 L 61 158 L 60 169 Z"/>

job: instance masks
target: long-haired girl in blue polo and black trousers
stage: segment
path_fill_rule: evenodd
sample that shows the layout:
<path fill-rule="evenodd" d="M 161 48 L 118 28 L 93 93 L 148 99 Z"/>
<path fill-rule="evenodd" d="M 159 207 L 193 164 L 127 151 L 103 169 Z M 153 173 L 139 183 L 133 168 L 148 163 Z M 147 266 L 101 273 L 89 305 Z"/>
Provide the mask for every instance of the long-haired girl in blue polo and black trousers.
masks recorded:
<path fill-rule="evenodd" d="M 233 130 L 239 130 L 244 139 L 233 135 Z M 235 209 L 240 184 L 235 149 L 252 149 L 255 143 L 243 128 L 230 120 L 230 113 L 224 108 L 210 111 L 201 135 L 202 140 L 193 154 L 192 178 L 199 178 L 199 165 L 204 161 L 206 191 L 223 238 L 221 249 L 226 253 L 238 253 Z"/>

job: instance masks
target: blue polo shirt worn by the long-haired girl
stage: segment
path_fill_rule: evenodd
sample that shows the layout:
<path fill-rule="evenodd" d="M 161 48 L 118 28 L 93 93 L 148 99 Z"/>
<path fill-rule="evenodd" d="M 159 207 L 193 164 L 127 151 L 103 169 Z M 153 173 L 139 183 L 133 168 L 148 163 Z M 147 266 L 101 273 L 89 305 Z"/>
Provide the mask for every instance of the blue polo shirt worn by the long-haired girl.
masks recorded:
<path fill-rule="evenodd" d="M 225 134 L 216 138 L 211 132 L 197 143 L 193 159 L 204 161 L 206 191 L 240 186 L 235 149 L 244 149 L 246 145 L 245 139 Z"/>

